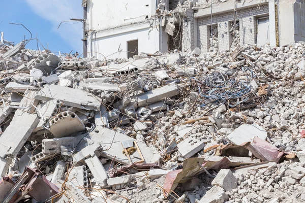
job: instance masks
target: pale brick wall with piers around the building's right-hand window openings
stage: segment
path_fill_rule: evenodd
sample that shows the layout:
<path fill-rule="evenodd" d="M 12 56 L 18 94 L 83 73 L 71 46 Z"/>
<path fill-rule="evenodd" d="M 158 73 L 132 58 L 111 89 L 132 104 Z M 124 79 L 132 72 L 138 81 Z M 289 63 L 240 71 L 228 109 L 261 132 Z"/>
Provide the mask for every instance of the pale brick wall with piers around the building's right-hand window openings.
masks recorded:
<path fill-rule="evenodd" d="M 246 9 L 240 9 L 237 10 L 237 17 L 236 20 L 239 20 L 239 30 L 240 30 L 240 40 L 241 43 L 245 44 L 255 44 L 256 43 L 256 35 L 257 35 L 257 30 L 256 30 L 256 17 L 259 15 L 267 15 L 268 14 L 268 4 L 266 5 L 261 5 L 259 8 L 257 6 L 251 7 L 251 8 L 246 8 Z M 250 22 L 251 18 L 251 22 Z M 217 15 L 212 15 L 212 24 L 229 24 L 229 21 L 233 20 L 233 11 L 231 12 L 226 12 L 226 13 L 221 13 Z M 210 36 L 206 36 L 207 33 L 207 26 L 211 24 L 211 18 L 210 16 L 208 17 L 203 17 L 203 18 L 198 18 L 197 19 L 198 23 L 198 47 L 201 48 L 204 51 L 208 50 L 208 44 Z M 252 31 L 251 31 L 252 30 Z M 229 39 L 229 33 L 226 33 L 228 30 L 227 29 L 220 29 L 218 31 L 218 38 L 220 39 L 222 34 L 224 36 L 227 36 Z M 230 40 L 224 40 L 224 43 L 229 43 Z M 228 44 L 226 45 L 221 45 L 222 50 L 227 50 Z M 220 49 L 220 50 L 221 50 Z"/>

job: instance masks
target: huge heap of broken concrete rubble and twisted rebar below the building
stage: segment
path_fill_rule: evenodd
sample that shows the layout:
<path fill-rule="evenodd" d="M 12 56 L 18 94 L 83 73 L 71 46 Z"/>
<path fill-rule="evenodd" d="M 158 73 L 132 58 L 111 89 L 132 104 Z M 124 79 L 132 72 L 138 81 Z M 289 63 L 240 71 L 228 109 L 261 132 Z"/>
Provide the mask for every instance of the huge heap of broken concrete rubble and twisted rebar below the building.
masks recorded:
<path fill-rule="evenodd" d="M 0 46 L 1 202 L 305 201 L 304 48 Z"/>

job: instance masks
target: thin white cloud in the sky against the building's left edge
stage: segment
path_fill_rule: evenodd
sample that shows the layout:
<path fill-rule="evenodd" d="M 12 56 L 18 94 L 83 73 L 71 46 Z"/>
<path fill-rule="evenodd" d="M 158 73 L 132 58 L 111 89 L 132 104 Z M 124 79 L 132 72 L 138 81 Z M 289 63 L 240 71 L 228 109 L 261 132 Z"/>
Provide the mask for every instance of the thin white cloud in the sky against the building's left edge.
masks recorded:
<path fill-rule="evenodd" d="M 82 52 L 82 25 L 62 24 L 60 22 L 71 18 L 82 19 L 83 10 L 80 0 L 25 0 L 32 10 L 40 17 L 50 21 L 52 30 L 57 32 L 75 51 Z M 67 22 L 73 23 L 73 22 Z M 53 50 L 55 51 L 55 50 Z M 57 50 L 56 50 L 57 51 Z"/>

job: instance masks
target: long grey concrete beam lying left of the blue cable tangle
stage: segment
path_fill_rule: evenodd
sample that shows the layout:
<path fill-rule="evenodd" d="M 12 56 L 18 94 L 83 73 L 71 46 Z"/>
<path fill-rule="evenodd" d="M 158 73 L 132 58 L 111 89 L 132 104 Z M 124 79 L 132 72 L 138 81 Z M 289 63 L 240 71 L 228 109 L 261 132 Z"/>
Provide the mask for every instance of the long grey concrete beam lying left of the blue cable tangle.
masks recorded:
<path fill-rule="evenodd" d="M 156 103 L 157 101 L 164 100 L 165 98 L 175 96 L 179 94 L 179 92 L 180 91 L 176 85 L 165 85 L 142 94 L 131 96 L 130 99 L 121 100 L 114 106 L 118 107 L 123 105 L 123 107 L 127 107 L 129 104 L 135 104 L 135 107 L 144 107 Z"/>

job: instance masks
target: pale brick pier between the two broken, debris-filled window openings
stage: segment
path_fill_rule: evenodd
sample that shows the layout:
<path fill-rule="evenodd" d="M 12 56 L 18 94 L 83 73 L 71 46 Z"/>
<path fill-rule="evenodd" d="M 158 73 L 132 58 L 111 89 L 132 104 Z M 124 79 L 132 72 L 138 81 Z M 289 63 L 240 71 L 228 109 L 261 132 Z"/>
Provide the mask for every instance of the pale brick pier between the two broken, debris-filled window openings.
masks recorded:
<path fill-rule="evenodd" d="M 218 48 L 219 51 L 229 51 L 232 44 L 232 35 L 229 33 L 229 21 L 220 22 L 218 24 Z"/>

